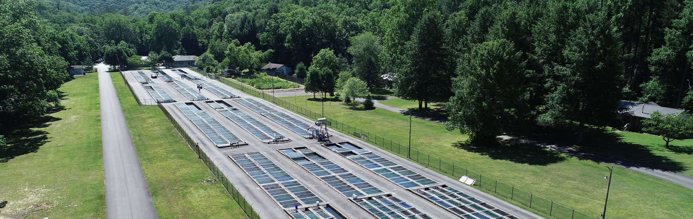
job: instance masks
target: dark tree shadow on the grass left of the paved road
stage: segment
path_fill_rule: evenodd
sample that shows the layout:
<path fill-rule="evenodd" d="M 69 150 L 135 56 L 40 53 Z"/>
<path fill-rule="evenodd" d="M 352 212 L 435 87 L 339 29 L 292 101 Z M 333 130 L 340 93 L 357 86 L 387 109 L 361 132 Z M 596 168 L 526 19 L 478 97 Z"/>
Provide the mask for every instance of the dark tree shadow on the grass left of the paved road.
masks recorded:
<path fill-rule="evenodd" d="M 63 99 L 64 96 L 60 95 Z M 55 112 L 65 110 L 62 105 L 50 107 L 44 116 L 35 116 L 22 119 L 20 123 L 8 125 L 11 128 L 0 130 L 0 133 L 5 137 L 7 146 L 0 148 L 0 163 L 5 163 L 11 159 L 26 155 L 30 152 L 37 152 L 41 146 L 49 142 L 48 132 L 38 130 L 46 128 L 55 121 L 60 121 L 60 118 L 51 116 Z"/>

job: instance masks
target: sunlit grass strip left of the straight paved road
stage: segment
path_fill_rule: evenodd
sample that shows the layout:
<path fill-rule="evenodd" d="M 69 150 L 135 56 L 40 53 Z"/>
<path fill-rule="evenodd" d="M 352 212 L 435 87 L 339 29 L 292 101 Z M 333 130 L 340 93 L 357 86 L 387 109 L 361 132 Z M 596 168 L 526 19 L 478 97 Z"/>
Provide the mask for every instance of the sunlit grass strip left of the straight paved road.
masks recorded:
<path fill-rule="evenodd" d="M 61 105 L 7 134 L 0 155 L 0 218 L 104 218 L 98 79 L 75 76 Z"/>

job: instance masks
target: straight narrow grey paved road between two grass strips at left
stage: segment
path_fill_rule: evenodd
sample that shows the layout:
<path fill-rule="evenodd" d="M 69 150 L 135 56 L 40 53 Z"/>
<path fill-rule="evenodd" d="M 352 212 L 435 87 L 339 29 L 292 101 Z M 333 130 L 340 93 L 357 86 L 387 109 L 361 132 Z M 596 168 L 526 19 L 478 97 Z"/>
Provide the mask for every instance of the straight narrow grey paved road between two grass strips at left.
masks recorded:
<path fill-rule="evenodd" d="M 106 218 L 158 218 L 108 66 L 97 64 Z"/>

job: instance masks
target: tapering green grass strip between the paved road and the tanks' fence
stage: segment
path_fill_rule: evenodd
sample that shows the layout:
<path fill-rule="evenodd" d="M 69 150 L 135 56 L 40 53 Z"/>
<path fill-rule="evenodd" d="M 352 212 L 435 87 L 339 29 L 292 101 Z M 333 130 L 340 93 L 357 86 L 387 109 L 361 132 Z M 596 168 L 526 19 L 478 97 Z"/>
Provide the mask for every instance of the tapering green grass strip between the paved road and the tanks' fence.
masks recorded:
<path fill-rule="evenodd" d="M 137 105 L 111 73 L 159 218 L 247 218 L 156 105 Z"/>

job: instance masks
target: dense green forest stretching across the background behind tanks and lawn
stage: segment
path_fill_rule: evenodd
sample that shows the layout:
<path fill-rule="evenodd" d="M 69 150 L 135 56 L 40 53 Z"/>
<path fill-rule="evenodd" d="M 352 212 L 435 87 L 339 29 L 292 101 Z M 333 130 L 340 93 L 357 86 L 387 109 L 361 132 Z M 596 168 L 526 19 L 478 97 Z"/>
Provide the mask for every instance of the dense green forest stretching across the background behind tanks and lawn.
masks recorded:
<path fill-rule="evenodd" d="M 99 8 L 91 2 L 78 5 Z M 100 15 L 42 1 L 46 28 L 32 33 L 69 63 L 187 54 L 210 71 L 300 65 L 307 89 L 326 93 L 340 72 L 371 89 L 396 73 L 397 96 L 448 101 L 448 128 L 473 138 L 507 123 L 604 125 L 618 100 L 693 107 L 692 0 L 141 2 L 157 9 Z"/>

